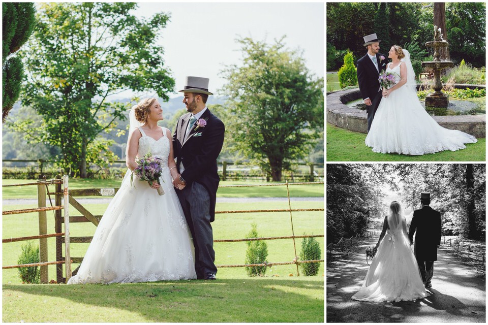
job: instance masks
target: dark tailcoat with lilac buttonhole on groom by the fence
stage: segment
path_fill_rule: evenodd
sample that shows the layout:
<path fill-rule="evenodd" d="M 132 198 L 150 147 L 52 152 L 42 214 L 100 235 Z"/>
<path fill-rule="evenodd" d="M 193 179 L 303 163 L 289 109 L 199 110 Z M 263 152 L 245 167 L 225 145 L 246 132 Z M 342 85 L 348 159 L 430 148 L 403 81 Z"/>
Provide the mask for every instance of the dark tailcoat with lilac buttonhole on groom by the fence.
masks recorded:
<path fill-rule="evenodd" d="M 205 186 L 210 196 L 210 222 L 215 219 L 215 204 L 220 177 L 217 173 L 217 157 L 224 143 L 224 123 L 207 108 L 200 117 L 206 121 L 204 127 L 194 124 L 189 136 L 185 137 L 185 130 L 191 113 L 182 115 L 176 124 L 173 134 L 173 151 L 176 166 L 180 163 L 185 170 L 181 177 L 191 185 L 197 182 Z"/>

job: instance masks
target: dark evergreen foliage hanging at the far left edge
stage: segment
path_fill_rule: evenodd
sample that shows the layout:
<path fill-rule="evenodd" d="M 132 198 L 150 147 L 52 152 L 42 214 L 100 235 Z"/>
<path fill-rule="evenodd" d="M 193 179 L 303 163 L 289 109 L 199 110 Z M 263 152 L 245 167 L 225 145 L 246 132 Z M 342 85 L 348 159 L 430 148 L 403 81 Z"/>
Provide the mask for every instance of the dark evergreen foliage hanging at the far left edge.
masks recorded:
<path fill-rule="evenodd" d="M 2 121 L 19 99 L 23 64 L 15 53 L 31 36 L 36 10 L 33 3 L 2 4 Z"/>

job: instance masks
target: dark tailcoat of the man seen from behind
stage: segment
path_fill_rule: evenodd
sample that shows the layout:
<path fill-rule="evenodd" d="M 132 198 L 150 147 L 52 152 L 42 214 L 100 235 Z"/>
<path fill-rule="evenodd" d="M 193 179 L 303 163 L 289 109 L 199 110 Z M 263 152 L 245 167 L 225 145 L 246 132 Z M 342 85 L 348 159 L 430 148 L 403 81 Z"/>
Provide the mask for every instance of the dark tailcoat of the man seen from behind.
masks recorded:
<path fill-rule="evenodd" d="M 415 234 L 415 257 L 418 261 L 437 261 L 437 245 L 441 244 L 441 214 L 430 206 L 413 212 L 408 231 L 410 241 Z"/>

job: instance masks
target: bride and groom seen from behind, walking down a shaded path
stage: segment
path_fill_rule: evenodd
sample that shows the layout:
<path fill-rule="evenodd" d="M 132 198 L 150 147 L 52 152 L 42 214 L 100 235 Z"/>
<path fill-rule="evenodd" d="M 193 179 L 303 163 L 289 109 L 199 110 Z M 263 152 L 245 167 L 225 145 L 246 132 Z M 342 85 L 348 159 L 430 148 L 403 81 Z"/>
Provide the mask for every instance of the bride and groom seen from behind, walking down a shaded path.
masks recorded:
<path fill-rule="evenodd" d="M 422 208 L 415 210 L 407 233 L 400 204 L 391 202 L 370 269 L 354 300 L 370 302 L 410 301 L 429 296 L 434 261 L 441 243 L 441 214 L 432 209 L 430 193 L 420 194 Z M 414 251 L 410 246 L 415 235 Z"/>

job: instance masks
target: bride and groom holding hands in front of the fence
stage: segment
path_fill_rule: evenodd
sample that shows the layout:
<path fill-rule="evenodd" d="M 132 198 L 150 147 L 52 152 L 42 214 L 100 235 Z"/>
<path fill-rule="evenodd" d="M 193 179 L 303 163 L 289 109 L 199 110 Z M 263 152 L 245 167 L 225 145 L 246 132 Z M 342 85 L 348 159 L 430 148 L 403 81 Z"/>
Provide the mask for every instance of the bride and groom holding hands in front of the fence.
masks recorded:
<path fill-rule="evenodd" d="M 216 279 L 210 222 L 225 126 L 205 105 L 212 94 L 207 78 L 187 77 L 180 92 L 188 114 L 179 118 L 172 137 L 169 129 L 158 126 L 163 110 L 155 98 L 132 108 L 129 170 L 68 284 Z M 161 185 L 131 185 L 136 156 L 148 153 L 161 159 Z"/>

